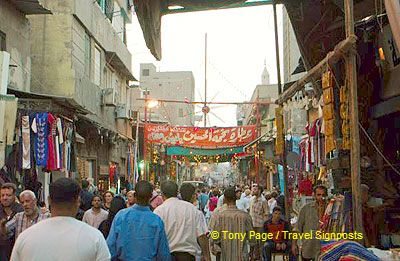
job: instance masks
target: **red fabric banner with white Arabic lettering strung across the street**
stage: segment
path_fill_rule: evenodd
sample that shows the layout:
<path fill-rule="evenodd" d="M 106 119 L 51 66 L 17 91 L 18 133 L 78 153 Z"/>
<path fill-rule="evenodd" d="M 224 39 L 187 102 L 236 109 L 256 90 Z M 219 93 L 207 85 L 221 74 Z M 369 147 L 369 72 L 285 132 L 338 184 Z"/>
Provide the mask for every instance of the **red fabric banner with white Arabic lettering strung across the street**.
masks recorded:
<path fill-rule="evenodd" d="M 178 127 L 146 124 L 145 142 L 190 148 L 238 147 L 256 138 L 256 126 L 227 128 Z"/>

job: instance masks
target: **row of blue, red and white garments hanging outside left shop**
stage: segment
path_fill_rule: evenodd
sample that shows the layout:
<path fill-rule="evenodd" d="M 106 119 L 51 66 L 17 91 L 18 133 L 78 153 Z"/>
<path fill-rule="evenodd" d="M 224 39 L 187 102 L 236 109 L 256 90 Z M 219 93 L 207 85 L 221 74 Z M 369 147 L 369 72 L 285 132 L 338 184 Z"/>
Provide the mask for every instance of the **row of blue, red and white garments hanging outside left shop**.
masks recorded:
<path fill-rule="evenodd" d="M 16 122 L 17 145 L 14 146 L 15 171 L 21 182 L 33 191 L 40 187 L 37 172 L 60 170 L 66 173 L 75 168 L 74 123 L 49 112 L 19 111 Z M 39 169 L 36 169 L 39 167 Z M 1 172 L 5 176 L 5 172 Z M 9 180 L 2 178 L 2 181 Z"/>

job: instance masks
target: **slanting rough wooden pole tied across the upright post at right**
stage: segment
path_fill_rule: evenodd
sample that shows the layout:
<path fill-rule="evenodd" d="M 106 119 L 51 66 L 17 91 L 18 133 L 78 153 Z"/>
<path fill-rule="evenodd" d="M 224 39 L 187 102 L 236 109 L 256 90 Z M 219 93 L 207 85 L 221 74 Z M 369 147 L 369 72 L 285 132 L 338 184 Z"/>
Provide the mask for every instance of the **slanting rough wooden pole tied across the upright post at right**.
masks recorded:
<path fill-rule="evenodd" d="M 342 59 L 350 50 L 353 49 L 354 44 L 357 41 L 357 37 L 354 34 L 350 34 L 347 38 L 338 43 L 334 50 L 329 52 L 326 57 L 320 61 L 316 66 L 307 72 L 306 75 L 301 77 L 298 81 L 292 84 L 282 95 L 279 95 L 279 99 L 276 101 L 277 104 L 283 104 L 289 98 L 291 98 L 296 92 L 302 90 L 304 85 L 310 82 L 313 78 L 321 78 L 321 74 L 326 70 L 327 64 L 335 64 Z"/>

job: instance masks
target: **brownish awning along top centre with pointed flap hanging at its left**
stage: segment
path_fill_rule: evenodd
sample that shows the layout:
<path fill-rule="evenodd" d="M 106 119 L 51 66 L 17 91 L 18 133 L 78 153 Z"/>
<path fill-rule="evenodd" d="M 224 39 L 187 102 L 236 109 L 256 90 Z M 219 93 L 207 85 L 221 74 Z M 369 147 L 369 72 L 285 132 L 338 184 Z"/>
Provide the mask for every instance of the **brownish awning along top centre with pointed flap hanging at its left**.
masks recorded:
<path fill-rule="evenodd" d="M 277 2 L 281 2 L 280 0 Z M 272 4 L 272 0 L 134 0 L 147 47 L 161 60 L 161 17 L 167 14 Z"/>

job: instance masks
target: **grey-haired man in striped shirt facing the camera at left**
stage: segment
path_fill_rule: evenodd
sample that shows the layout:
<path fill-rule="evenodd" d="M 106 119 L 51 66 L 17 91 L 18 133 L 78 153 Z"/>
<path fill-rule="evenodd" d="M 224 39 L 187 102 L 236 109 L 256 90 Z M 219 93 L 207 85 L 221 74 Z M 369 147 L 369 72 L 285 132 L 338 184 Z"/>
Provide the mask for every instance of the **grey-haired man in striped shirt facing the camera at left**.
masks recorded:
<path fill-rule="evenodd" d="M 35 193 L 30 190 L 24 190 L 20 194 L 20 202 L 24 208 L 23 212 L 17 213 L 10 221 L 1 222 L 1 232 L 8 238 L 15 235 L 15 239 L 27 228 L 37 222 L 50 217 L 50 213 L 42 214 L 37 207 Z"/>

